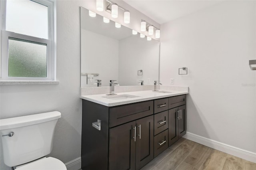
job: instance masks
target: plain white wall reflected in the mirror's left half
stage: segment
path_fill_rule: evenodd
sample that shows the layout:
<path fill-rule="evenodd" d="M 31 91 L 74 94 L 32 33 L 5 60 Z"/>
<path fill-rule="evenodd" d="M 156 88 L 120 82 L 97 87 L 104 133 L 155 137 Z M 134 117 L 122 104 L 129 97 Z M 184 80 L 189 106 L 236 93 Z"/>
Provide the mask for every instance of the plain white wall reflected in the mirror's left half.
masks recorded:
<path fill-rule="evenodd" d="M 118 80 L 118 40 L 81 29 L 81 73 L 99 73 L 94 80 L 101 79 L 102 86 Z M 81 87 L 89 87 L 86 76 L 81 76 Z"/>

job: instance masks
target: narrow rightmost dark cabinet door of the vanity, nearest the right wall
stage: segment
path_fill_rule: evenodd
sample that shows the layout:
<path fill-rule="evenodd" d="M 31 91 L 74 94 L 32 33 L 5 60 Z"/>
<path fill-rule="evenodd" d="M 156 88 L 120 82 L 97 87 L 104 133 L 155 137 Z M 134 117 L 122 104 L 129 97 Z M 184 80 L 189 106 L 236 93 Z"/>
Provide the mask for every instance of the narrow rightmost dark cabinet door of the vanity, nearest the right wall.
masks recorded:
<path fill-rule="evenodd" d="M 178 110 L 180 111 L 180 119 L 178 119 L 178 138 L 181 138 L 187 131 L 186 105 L 180 106 Z"/>

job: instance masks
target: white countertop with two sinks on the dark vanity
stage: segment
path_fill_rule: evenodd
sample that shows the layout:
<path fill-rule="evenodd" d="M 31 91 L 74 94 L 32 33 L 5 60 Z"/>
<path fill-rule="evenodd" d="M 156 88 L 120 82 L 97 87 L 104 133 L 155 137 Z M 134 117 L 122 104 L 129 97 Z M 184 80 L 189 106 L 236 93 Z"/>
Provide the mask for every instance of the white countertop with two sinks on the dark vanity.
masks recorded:
<path fill-rule="evenodd" d="M 160 90 L 160 91 L 166 91 L 166 90 Z M 138 96 L 138 97 L 134 97 L 134 98 L 118 99 L 118 100 L 104 98 L 107 96 L 106 94 L 82 95 L 80 98 L 88 100 L 88 101 L 92 101 L 94 103 L 98 103 L 98 104 L 101 104 L 104 106 L 112 107 L 112 106 L 118 106 L 118 105 L 125 105 L 125 104 L 129 104 L 129 103 L 136 103 L 136 102 L 141 102 L 141 101 L 160 99 L 160 98 L 164 98 L 164 97 L 172 97 L 172 96 L 188 94 L 188 91 L 168 91 L 168 92 L 171 92 L 171 93 L 159 93 L 159 92 L 155 92 L 152 90 L 115 93 L 117 95 Z"/>

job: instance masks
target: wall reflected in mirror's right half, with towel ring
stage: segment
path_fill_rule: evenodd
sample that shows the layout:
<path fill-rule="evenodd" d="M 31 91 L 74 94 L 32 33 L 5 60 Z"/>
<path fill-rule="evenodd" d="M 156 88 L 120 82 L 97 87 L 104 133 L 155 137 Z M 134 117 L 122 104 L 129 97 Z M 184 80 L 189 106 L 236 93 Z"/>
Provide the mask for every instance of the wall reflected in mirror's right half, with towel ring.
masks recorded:
<path fill-rule="evenodd" d="M 120 85 L 140 85 L 139 80 L 144 80 L 144 85 L 153 85 L 154 80 L 158 80 L 159 42 L 147 41 L 139 36 L 137 34 L 119 41 Z M 138 70 L 142 70 L 143 75 L 138 76 Z"/>

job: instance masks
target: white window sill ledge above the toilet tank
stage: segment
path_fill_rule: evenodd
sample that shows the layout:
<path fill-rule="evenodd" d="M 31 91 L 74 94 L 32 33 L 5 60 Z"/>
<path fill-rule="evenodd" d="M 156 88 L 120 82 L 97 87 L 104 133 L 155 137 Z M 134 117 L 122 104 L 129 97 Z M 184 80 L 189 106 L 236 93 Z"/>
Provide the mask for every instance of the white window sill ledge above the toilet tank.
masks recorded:
<path fill-rule="evenodd" d="M 60 81 L 16 81 L 16 80 L 0 80 L 0 85 L 55 85 Z"/>

